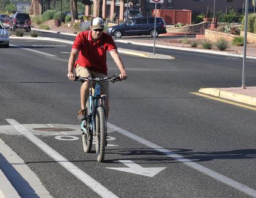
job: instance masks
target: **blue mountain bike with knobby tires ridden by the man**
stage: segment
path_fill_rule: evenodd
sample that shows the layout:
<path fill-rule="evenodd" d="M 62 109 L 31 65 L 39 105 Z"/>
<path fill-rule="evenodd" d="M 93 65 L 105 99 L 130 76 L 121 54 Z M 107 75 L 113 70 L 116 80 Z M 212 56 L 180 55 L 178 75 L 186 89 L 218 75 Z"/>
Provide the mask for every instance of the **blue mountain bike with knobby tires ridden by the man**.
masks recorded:
<path fill-rule="evenodd" d="M 104 161 L 105 147 L 107 145 L 106 136 L 107 133 L 107 123 L 106 123 L 106 95 L 101 95 L 100 83 L 104 80 L 108 80 L 112 83 L 120 81 L 117 74 L 111 77 L 105 78 L 90 78 L 76 76 L 76 81 L 80 82 L 91 82 L 89 89 L 89 97 L 86 102 L 86 119 L 81 122 L 81 132 L 82 132 L 82 146 L 84 152 L 92 151 L 92 140 L 95 136 L 96 140 L 96 155 L 97 161 Z M 94 93 L 93 83 L 95 83 Z"/>

